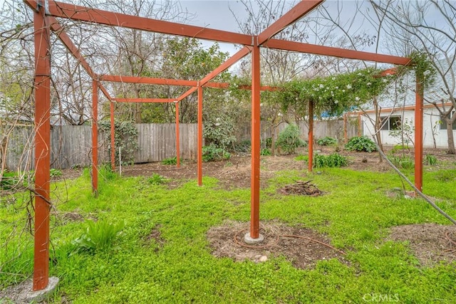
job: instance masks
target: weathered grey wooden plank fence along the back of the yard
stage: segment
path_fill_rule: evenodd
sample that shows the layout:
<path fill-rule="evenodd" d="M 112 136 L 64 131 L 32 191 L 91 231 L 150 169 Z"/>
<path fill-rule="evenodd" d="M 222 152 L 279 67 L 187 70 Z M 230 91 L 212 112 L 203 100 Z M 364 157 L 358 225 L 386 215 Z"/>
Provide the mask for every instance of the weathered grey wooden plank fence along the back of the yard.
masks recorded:
<path fill-rule="evenodd" d="M 135 163 L 159 162 L 176 154 L 175 124 L 138 124 L 138 151 L 135 152 Z M 276 136 L 284 130 L 286 124 L 279 125 Z M 308 140 L 308 127 L 305 122 L 299 124 L 301 137 Z M 356 123 L 347 123 L 348 137 L 358 135 Z M 343 139 L 343 120 L 317 121 L 314 127 L 316 139 L 331 136 Z M 261 139 L 271 137 L 271 130 L 261 125 Z M 103 135 L 99 135 L 100 162 L 109 162 L 108 145 Z M 250 127 L 240 127 L 238 140 L 250 139 Z M 54 126 L 51 129 L 51 167 L 68 169 L 86 167 L 91 159 L 91 127 Z M 8 146 L 5 156 L 6 167 L 11 170 L 33 169 L 33 127 L 15 127 L 8 135 Z M 196 159 L 197 125 L 180 124 L 180 154 L 182 159 Z"/>

